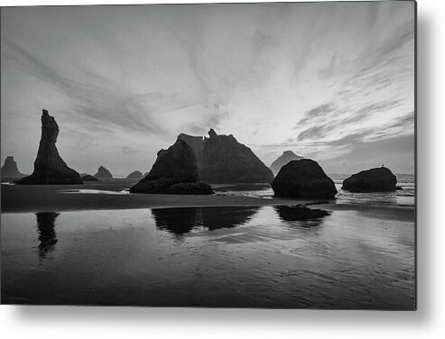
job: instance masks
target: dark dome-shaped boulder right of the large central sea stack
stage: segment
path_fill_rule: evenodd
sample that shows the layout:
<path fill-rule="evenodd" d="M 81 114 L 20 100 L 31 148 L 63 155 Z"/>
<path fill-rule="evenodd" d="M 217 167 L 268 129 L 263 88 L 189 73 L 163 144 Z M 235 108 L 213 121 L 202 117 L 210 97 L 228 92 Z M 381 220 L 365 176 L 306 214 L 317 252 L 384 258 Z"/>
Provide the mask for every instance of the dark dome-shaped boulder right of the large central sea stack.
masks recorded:
<path fill-rule="evenodd" d="M 292 160 L 280 169 L 271 186 L 276 197 L 331 199 L 337 194 L 330 179 L 317 161 Z"/>

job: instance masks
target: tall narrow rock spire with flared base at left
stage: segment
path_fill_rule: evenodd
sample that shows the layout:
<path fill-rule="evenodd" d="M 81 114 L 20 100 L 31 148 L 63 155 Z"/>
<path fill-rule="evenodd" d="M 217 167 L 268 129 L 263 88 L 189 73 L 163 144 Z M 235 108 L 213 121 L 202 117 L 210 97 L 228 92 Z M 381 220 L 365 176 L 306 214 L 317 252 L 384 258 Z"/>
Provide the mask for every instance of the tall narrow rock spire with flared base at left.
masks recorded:
<path fill-rule="evenodd" d="M 42 137 L 34 171 L 28 177 L 15 180 L 19 185 L 76 185 L 83 184 L 77 171 L 70 169 L 56 148 L 59 126 L 46 109 L 42 110 Z"/>

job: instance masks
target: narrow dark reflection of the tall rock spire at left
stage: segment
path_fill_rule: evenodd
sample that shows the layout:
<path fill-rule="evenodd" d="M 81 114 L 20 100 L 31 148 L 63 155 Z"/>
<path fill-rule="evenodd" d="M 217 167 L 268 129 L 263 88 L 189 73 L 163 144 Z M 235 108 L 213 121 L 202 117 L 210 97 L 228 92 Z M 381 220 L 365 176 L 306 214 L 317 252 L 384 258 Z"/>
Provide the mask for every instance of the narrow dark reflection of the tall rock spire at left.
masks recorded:
<path fill-rule="evenodd" d="M 57 216 L 60 213 L 41 212 L 36 213 L 37 232 L 39 233 L 39 258 L 45 259 L 49 253 L 54 251 L 54 245 L 57 243 L 54 225 Z"/>

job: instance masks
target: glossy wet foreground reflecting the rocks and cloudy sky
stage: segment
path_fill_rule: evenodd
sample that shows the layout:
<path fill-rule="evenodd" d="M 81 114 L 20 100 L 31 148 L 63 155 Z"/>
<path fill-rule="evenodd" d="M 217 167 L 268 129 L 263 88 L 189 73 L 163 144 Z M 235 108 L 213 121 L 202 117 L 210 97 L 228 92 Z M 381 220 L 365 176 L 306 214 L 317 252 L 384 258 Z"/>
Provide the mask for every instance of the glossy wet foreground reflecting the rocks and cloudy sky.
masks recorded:
<path fill-rule="evenodd" d="M 188 207 L 1 222 L 6 304 L 415 307 L 414 223 L 400 211 Z"/>

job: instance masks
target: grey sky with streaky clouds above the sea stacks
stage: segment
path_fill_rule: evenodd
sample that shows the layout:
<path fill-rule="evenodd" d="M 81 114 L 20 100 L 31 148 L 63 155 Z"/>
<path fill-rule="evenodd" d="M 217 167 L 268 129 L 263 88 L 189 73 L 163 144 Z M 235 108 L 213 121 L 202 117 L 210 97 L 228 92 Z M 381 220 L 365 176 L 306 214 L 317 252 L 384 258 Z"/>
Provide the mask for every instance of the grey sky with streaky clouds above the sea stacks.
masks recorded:
<path fill-rule="evenodd" d="M 89 174 L 148 171 L 210 128 L 267 166 L 411 174 L 414 31 L 409 1 L 4 7 L 2 161 L 32 173 L 45 108 Z"/>

